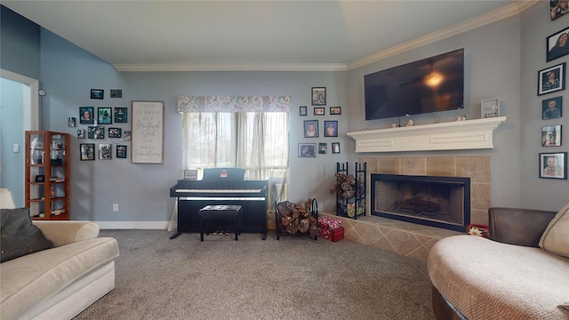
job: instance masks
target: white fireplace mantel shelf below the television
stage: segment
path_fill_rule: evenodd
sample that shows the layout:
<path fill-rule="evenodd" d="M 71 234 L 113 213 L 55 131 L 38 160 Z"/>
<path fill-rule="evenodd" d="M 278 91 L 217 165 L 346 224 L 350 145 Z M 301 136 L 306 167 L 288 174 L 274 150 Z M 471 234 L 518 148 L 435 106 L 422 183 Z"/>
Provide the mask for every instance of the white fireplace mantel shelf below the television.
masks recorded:
<path fill-rule="evenodd" d="M 505 116 L 348 132 L 356 152 L 396 152 L 493 148 L 493 131 Z"/>

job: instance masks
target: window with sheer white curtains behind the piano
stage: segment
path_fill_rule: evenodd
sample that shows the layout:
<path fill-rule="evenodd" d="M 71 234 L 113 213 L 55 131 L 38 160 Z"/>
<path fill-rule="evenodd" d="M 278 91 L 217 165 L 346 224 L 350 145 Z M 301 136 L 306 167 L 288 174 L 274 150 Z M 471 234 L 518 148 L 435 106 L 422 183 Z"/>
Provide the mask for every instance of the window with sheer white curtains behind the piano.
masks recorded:
<path fill-rule="evenodd" d="M 245 179 L 269 180 L 272 194 L 288 174 L 288 128 L 288 112 L 184 112 L 184 169 L 200 179 L 204 168 L 244 168 Z"/>

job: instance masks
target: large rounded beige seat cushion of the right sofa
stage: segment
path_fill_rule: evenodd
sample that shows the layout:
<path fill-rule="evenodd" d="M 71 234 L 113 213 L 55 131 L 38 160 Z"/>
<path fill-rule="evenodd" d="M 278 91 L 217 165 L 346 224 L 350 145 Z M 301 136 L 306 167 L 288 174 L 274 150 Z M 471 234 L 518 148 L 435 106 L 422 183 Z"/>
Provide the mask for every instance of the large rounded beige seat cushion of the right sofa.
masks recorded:
<path fill-rule="evenodd" d="M 566 319 L 569 259 L 482 236 L 448 236 L 433 245 L 429 277 L 468 319 Z"/>

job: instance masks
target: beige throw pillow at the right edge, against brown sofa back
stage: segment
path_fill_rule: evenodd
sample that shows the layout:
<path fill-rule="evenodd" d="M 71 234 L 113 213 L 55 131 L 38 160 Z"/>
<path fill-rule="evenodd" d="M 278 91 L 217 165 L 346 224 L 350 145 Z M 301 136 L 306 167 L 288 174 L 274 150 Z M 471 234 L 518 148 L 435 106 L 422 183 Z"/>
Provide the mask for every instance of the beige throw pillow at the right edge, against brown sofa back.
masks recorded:
<path fill-rule="evenodd" d="M 540 247 L 569 258 L 569 203 L 549 221 L 541 236 Z"/>

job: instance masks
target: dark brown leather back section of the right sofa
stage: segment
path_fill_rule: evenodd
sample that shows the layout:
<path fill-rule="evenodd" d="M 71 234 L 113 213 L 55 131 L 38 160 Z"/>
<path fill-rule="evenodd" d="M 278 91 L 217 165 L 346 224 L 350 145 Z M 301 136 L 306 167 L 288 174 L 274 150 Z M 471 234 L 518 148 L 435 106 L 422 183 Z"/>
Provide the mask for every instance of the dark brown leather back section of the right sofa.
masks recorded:
<path fill-rule="evenodd" d="M 488 237 L 504 244 L 539 247 L 541 235 L 556 213 L 492 207 L 488 209 Z"/>

